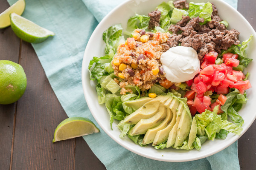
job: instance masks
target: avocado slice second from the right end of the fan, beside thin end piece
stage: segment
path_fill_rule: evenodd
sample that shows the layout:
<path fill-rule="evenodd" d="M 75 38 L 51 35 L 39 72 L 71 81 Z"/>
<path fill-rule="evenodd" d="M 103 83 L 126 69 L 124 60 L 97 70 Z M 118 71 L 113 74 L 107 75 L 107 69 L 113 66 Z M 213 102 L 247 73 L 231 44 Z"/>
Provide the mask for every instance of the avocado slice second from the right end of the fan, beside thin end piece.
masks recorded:
<path fill-rule="evenodd" d="M 183 103 L 183 102 L 181 102 L 181 103 Z M 183 103 L 183 106 L 184 106 L 184 108 L 183 108 L 183 112 L 180 116 L 179 125 L 177 127 L 177 135 L 176 135 L 174 147 L 178 147 L 178 146 L 180 146 L 180 144 L 183 143 L 183 141 L 189 135 L 189 132 L 191 129 L 191 124 L 192 124 L 191 113 L 185 103 Z"/>

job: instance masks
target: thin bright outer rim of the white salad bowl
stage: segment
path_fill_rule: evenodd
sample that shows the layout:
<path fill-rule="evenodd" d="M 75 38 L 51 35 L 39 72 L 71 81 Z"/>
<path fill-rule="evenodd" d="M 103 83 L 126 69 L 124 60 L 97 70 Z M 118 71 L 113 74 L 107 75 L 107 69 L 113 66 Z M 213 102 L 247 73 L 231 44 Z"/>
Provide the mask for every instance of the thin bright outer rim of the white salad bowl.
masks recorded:
<path fill-rule="evenodd" d="M 105 20 L 108 19 L 108 17 L 113 14 L 117 9 L 119 9 L 120 7 L 122 6 L 125 6 L 126 4 L 128 3 L 131 3 L 132 1 L 136 1 L 136 0 L 126 0 L 125 2 L 119 4 L 118 6 L 116 6 L 115 8 L 113 8 L 98 24 L 98 26 L 96 26 L 96 28 L 94 29 L 93 33 L 91 34 L 90 36 L 90 39 L 89 41 L 87 42 L 87 45 L 86 45 L 86 48 L 85 48 L 85 51 L 84 51 L 84 56 L 83 56 L 83 61 L 82 61 L 82 68 L 81 68 L 81 79 L 82 79 L 82 88 L 83 88 L 83 92 L 84 92 L 84 97 L 86 99 L 86 102 L 89 103 L 88 101 L 91 100 L 90 96 L 86 95 L 86 85 L 85 85 L 85 82 L 87 81 L 84 77 L 85 77 L 85 74 L 87 74 L 87 65 L 85 65 L 85 61 L 86 61 L 86 54 L 87 54 L 87 51 L 90 51 L 90 49 L 88 48 L 88 44 L 90 44 L 93 40 L 92 40 L 92 37 L 97 34 L 97 31 L 100 27 L 102 27 L 102 24 L 104 23 Z M 163 2 L 164 0 L 162 0 L 161 2 Z M 166 1 L 166 0 L 165 0 Z M 233 12 L 235 12 L 236 14 L 238 14 L 241 18 L 243 18 L 243 20 L 247 23 L 247 25 L 250 27 L 251 30 L 253 30 L 252 34 L 256 34 L 255 30 L 253 29 L 253 27 L 250 25 L 250 23 L 246 20 L 246 18 L 238 11 L 236 10 L 235 8 L 233 8 L 230 4 L 226 3 L 225 1 L 223 0 L 215 0 L 217 1 L 218 3 L 222 3 L 226 6 L 228 6 Z M 220 152 L 221 150 L 224 150 L 226 149 L 227 147 L 229 147 L 231 144 L 233 144 L 234 142 L 236 142 L 247 130 L 248 128 L 253 124 L 254 120 L 256 119 L 256 114 L 254 114 L 254 117 L 252 117 L 250 123 L 248 123 L 248 126 L 247 127 L 243 127 L 243 131 L 241 132 L 241 134 L 239 136 L 235 136 L 230 142 L 224 142 L 223 145 L 221 147 L 219 147 L 218 149 L 212 151 L 212 152 L 208 152 L 202 156 L 198 156 L 197 158 L 186 158 L 186 159 L 168 159 L 168 157 L 162 157 L 160 159 L 154 157 L 154 156 L 151 156 L 151 155 L 148 155 L 148 154 L 145 154 L 145 153 L 141 153 L 137 150 L 135 150 L 134 148 L 131 148 L 131 147 L 128 147 L 127 145 L 125 145 L 125 142 L 122 143 L 122 142 L 119 142 L 115 136 L 113 134 L 111 134 L 106 128 L 104 125 L 102 125 L 102 123 L 95 117 L 96 115 L 96 111 L 95 111 L 95 108 L 91 108 L 90 105 L 88 105 L 88 108 L 90 110 L 90 112 L 92 113 L 94 119 L 96 120 L 96 122 L 99 124 L 99 126 L 105 131 L 105 133 L 108 134 L 108 136 L 111 137 L 111 139 L 113 139 L 117 144 L 121 145 L 122 147 L 124 147 L 125 149 L 127 150 L 130 150 L 131 152 L 133 153 L 136 153 L 140 156 L 143 156 L 145 158 L 149 158 L 149 159 L 154 159 L 154 160 L 158 160 L 158 161 L 168 161 L 168 162 L 184 162 L 184 161 L 194 161 L 194 160 L 198 160 L 198 159 L 203 159 L 203 158 L 206 158 L 208 156 L 211 156 L 215 153 L 218 153 Z M 107 113 L 107 111 L 106 111 Z"/>

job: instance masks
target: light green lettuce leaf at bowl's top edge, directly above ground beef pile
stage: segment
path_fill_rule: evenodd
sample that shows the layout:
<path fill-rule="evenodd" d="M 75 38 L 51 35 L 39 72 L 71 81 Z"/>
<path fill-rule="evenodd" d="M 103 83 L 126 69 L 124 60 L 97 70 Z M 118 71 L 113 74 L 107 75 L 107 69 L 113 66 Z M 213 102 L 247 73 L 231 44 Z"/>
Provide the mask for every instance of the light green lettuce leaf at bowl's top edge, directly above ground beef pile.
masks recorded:
<path fill-rule="evenodd" d="M 212 4 L 211 3 L 189 3 L 188 9 L 189 17 L 195 18 L 200 17 L 204 18 L 204 23 L 200 23 L 201 25 L 212 20 Z"/>

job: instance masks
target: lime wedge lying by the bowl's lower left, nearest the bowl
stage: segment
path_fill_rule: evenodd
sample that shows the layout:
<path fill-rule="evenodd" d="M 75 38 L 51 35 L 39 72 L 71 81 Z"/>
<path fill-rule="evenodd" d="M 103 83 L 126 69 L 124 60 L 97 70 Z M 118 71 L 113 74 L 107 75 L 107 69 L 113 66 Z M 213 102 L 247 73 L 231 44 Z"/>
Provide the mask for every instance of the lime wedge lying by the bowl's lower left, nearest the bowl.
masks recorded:
<path fill-rule="evenodd" d="M 52 142 L 72 139 L 98 132 L 99 129 L 89 119 L 83 117 L 70 117 L 62 121 L 56 127 Z"/>

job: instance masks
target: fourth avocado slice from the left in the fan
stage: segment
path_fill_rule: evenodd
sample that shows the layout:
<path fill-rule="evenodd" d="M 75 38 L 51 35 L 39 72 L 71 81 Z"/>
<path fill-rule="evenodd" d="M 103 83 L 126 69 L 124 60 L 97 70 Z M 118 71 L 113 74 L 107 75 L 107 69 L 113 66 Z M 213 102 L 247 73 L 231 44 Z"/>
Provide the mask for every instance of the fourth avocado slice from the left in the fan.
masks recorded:
<path fill-rule="evenodd" d="M 169 100 L 171 99 L 171 100 Z M 172 102 L 172 98 L 169 98 L 166 103 L 164 104 L 164 106 L 168 105 L 166 108 L 166 119 L 164 119 L 164 121 L 157 127 L 154 127 L 152 129 L 148 129 L 148 131 L 146 132 L 144 138 L 143 138 L 143 142 L 142 144 L 150 144 L 154 141 L 154 137 L 157 134 L 157 132 L 159 130 L 164 129 L 167 125 L 169 125 L 169 123 L 172 120 L 172 111 L 169 109 L 169 105 Z"/>

